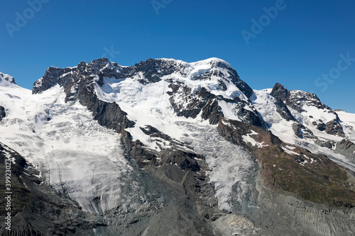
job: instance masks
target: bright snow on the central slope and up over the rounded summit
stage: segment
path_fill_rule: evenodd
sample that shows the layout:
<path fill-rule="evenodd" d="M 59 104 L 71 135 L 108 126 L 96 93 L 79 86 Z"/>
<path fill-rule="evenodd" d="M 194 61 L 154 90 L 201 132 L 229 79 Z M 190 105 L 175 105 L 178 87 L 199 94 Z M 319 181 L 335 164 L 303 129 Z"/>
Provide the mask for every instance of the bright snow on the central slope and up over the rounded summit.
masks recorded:
<path fill-rule="evenodd" d="M 126 79 L 104 77 L 103 86 L 96 84 L 96 93 L 99 99 L 118 103 L 122 110 L 129 114 L 128 118 L 138 123 L 135 128 L 129 130 L 135 134 L 133 135 L 135 140 L 139 139 L 142 142 L 147 141 L 145 135 L 139 129 L 139 126 L 144 127 L 147 124 L 158 128 L 161 132 L 176 139 L 181 137 L 182 133 L 179 131 L 180 129 L 174 125 L 174 121 L 185 119 L 178 118 L 170 105 L 170 96 L 167 93 L 171 91 L 169 88 L 170 83 L 168 82 L 170 79 L 188 86 L 192 94 L 204 87 L 207 91 L 216 96 L 223 96 L 226 99 L 233 99 L 238 96 L 242 101 L 249 101 L 246 95 L 234 83 L 226 79 L 230 76 L 226 68 L 212 67 L 212 65 L 216 63 L 223 63 L 226 67 L 230 67 L 230 64 L 224 60 L 210 58 L 208 60 L 192 63 L 173 59 L 160 60 L 181 64 L 184 69 L 182 72 L 175 72 L 164 76 L 159 82 L 155 83 L 142 84 L 140 81 L 145 78 L 142 73 L 138 73 Z M 222 73 L 223 76 L 212 76 L 211 79 L 196 79 L 196 77 L 200 77 L 202 74 L 211 71 L 218 71 Z M 226 84 L 225 91 L 221 88 L 221 79 L 224 84 Z M 178 103 L 183 105 L 186 103 L 185 99 L 187 98 L 180 96 L 176 99 Z M 233 118 L 240 120 L 238 116 L 235 115 L 235 112 L 232 111 L 232 109 L 235 108 L 235 104 L 223 102 L 220 103 L 220 105 L 222 105 L 224 113 L 230 113 Z M 150 145 L 148 142 L 144 143 Z"/>

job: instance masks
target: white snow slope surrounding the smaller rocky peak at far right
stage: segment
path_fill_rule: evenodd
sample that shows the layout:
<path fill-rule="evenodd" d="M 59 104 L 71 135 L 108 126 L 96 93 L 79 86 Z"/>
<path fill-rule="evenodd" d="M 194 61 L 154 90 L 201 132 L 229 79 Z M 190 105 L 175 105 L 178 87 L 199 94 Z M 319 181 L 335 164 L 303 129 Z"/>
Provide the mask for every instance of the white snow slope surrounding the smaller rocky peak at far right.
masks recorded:
<path fill-rule="evenodd" d="M 342 166 L 347 167 L 353 171 L 355 170 L 355 164 L 350 162 L 349 159 L 344 157 L 344 155 L 335 153 L 333 150 L 329 150 L 327 147 L 320 147 L 320 145 L 315 143 L 315 139 L 313 138 L 297 137 L 293 131 L 293 123 L 295 123 L 295 121 L 288 121 L 280 116 L 280 114 L 276 111 L 275 100 L 273 96 L 270 95 L 270 92 L 270 89 L 260 91 L 254 90 L 255 96 L 251 97 L 251 101 L 258 113 L 260 113 L 260 116 L 262 116 L 263 120 L 269 126 L 269 129 L 273 135 L 278 136 L 284 142 L 299 145 L 300 147 L 304 147 L 313 153 L 325 154 L 334 162 L 337 162 L 338 164 L 341 164 Z M 295 91 L 295 94 L 300 92 L 301 91 Z M 295 111 L 291 107 L 288 107 L 288 109 L 296 118 L 296 120 L 311 130 L 313 135 L 319 140 L 339 142 L 344 139 L 344 137 L 339 137 L 337 135 L 329 135 L 325 133 L 325 131 L 320 131 L 315 128 L 315 125 L 312 125 L 312 120 L 322 119 L 324 122 L 328 122 L 329 120 L 334 120 L 336 118 L 336 115 L 329 112 L 331 110 L 328 108 L 317 108 L 305 103 L 302 105 L 302 109 L 304 109 L 302 113 Z M 337 114 L 340 120 L 342 120 L 346 138 L 349 140 L 354 140 L 355 114 L 346 113 L 344 111 L 337 111 Z"/>

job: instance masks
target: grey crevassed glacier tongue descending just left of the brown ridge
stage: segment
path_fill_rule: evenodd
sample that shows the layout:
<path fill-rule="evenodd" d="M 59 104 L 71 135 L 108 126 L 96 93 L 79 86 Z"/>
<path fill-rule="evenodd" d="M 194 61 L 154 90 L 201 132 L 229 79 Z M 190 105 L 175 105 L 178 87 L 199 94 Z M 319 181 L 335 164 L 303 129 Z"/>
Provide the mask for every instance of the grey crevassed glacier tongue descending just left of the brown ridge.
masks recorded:
<path fill-rule="evenodd" d="M 211 172 L 209 181 L 214 184 L 220 210 L 235 212 L 249 207 L 248 194 L 253 191 L 257 164 L 249 152 L 226 141 L 212 125 L 178 122 L 186 131 L 182 140 L 203 154 Z M 236 188 L 236 189 L 235 189 Z M 238 205 L 238 206 L 237 206 Z"/>

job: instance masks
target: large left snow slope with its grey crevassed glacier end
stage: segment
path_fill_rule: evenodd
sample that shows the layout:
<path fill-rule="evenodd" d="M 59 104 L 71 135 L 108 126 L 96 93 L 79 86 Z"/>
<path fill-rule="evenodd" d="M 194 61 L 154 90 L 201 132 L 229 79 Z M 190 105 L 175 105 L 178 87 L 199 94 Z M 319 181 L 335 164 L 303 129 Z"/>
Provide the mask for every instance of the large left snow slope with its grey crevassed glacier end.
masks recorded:
<path fill-rule="evenodd" d="M 61 90 L 55 86 L 32 95 L 17 85 L 0 86 L 0 104 L 6 108 L 0 141 L 38 167 L 45 184 L 67 193 L 87 212 L 102 214 L 129 204 L 119 194 L 129 182 L 135 185 L 120 135 L 99 125 L 87 108 L 65 104 Z"/>

